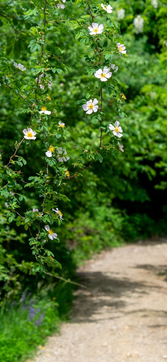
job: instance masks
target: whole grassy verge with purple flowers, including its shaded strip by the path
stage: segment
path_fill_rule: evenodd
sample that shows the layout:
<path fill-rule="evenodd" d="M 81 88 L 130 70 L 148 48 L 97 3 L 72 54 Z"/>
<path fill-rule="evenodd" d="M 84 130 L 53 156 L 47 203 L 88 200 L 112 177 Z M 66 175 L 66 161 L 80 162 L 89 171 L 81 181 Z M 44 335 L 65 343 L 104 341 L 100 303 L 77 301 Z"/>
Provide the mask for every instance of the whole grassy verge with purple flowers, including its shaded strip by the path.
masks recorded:
<path fill-rule="evenodd" d="M 67 320 L 72 302 L 72 285 L 58 283 L 57 291 L 50 285 L 50 292 L 42 290 L 38 297 L 22 293 L 19 302 L 1 306 L 0 312 L 0 361 L 25 362 L 37 350 L 44 349 L 46 338 L 59 332 L 59 323 Z M 59 303 L 57 300 L 59 299 Z M 64 308 L 59 306 L 63 304 Z"/>

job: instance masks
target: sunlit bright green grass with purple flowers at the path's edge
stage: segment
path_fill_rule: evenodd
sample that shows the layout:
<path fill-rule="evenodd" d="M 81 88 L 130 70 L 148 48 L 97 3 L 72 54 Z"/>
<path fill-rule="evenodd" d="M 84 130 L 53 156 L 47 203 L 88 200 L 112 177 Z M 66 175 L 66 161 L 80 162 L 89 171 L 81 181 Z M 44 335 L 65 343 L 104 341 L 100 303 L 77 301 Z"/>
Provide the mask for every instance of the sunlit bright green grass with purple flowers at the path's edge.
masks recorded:
<path fill-rule="evenodd" d="M 43 348 L 46 337 L 57 331 L 59 322 L 54 302 L 30 300 L 0 315 L 0 357 L 2 362 L 25 362 L 34 349 Z"/>

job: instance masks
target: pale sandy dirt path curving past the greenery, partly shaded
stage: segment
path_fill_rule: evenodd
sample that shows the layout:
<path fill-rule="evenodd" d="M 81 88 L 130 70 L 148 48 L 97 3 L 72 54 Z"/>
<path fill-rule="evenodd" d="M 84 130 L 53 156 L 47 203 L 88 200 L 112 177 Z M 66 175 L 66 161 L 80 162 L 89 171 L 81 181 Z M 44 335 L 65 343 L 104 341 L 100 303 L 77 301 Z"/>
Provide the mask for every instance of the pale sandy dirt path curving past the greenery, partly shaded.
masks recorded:
<path fill-rule="evenodd" d="M 35 362 L 167 361 L 167 244 L 106 251 L 79 269 L 71 320 Z"/>

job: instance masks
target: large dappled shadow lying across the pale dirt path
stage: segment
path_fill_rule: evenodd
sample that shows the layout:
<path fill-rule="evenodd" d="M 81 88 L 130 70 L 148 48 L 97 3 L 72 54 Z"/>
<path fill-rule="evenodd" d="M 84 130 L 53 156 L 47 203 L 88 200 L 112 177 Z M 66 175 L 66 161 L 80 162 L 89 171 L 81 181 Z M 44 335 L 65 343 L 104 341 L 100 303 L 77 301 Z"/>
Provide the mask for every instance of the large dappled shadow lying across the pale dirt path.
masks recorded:
<path fill-rule="evenodd" d="M 151 267 L 151 269 L 150 269 Z M 147 270 L 162 270 L 164 266 L 154 267 L 150 265 L 137 265 L 136 268 L 145 268 Z M 135 266 L 134 266 L 135 268 Z M 78 296 L 75 300 L 75 309 L 72 315 L 73 321 L 76 323 L 95 322 L 100 320 L 102 316 L 102 309 L 108 311 L 108 319 L 118 318 L 125 311 L 125 307 L 132 304 L 131 296 L 137 295 L 137 298 L 142 298 L 143 295 L 149 295 L 151 290 L 159 291 L 161 287 L 157 284 L 150 284 L 145 281 L 135 282 L 128 277 L 113 278 L 113 274 L 117 273 L 102 273 L 100 271 L 79 273 L 80 282 L 84 284 L 87 289 L 79 290 Z M 111 275 L 111 276 L 110 276 Z M 133 276 L 133 274 L 132 274 Z M 134 303 L 134 302 L 133 302 Z M 133 310 L 132 313 L 138 312 Z M 139 310 L 146 315 L 148 310 Z M 153 310 L 150 310 L 153 312 Z M 162 312 L 167 315 L 165 311 L 155 311 L 155 313 Z M 97 319 L 96 319 L 97 316 Z M 99 318 L 100 317 L 100 318 Z"/>

